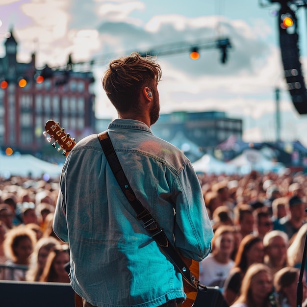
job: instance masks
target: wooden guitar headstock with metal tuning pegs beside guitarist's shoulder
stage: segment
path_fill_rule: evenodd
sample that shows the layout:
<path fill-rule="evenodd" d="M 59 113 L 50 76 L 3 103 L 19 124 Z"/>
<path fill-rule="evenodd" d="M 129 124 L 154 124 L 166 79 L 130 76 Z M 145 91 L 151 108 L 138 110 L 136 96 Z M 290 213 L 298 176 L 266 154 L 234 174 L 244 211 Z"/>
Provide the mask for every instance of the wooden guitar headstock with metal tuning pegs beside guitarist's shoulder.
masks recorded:
<path fill-rule="evenodd" d="M 71 136 L 65 132 L 65 128 L 61 128 L 59 123 L 56 123 L 50 119 L 45 124 L 45 129 L 46 131 L 44 131 L 43 134 L 47 138 L 48 142 L 51 142 L 53 139 L 54 143 L 52 143 L 52 146 L 56 148 L 58 145 L 59 147 L 57 148 L 57 151 L 60 152 L 62 150 L 63 155 L 67 156 L 76 145 L 76 140 L 71 138 Z M 48 136 L 48 134 L 50 136 Z"/>

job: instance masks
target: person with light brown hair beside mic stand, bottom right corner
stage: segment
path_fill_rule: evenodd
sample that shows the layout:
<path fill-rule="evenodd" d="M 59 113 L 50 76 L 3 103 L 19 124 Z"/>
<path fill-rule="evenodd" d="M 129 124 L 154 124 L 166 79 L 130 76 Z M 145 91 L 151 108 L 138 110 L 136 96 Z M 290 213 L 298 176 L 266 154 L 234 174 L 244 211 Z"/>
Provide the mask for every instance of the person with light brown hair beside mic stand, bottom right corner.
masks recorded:
<path fill-rule="evenodd" d="M 300 270 L 293 267 L 285 267 L 274 276 L 275 295 L 278 307 L 297 307 L 297 286 Z M 302 303 L 307 299 L 306 280 L 302 281 Z M 306 306 L 306 304 L 304 305 Z"/>

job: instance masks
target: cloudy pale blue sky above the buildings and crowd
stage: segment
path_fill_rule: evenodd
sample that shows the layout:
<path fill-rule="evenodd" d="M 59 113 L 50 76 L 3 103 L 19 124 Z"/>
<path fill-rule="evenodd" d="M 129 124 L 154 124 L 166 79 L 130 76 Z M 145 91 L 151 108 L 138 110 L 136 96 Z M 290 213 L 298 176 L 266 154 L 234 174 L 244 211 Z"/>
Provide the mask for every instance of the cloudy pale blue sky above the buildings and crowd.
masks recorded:
<path fill-rule="evenodd" d="M 113 58 L 131 51 L 162 50 L 166 46 L 210 45 L 228 38 L 228 61 L 220 51 L 200 50 L 157 54 L 162 68 L 158 90 L 161 113 L 223 111 L 243 120 L 246 142 L 275 141 L 275 89 L 280 89 L 281 140 L 307 146 L 307 115 L 300 115 L 283 77 L 278 40 L 278 3 L 269 0 L 0 0 L 0 57 L 5 33 L 13 28 L 18 61 L 63 67 L 72 54 L 78 69 L 95 74 L 97 118 L 116 118 L 101 85 Z M 306 11 L 297 12 L 303 75 L 307 68 Z M 211 45 L 210 45 L 211 46 Z"/>

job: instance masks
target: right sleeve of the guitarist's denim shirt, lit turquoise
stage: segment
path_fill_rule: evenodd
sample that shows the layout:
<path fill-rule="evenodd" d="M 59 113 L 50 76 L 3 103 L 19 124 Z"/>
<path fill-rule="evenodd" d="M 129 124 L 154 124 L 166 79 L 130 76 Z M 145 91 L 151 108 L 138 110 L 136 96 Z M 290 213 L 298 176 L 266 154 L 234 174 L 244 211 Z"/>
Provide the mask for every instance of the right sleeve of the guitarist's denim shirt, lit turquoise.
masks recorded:
<path fill-rule="evenodd" d="M 199 179 L 188 163 L 175 180 L 175 245 L 182 256 L 201 261 L 211 251 L 213 230 Z"/>

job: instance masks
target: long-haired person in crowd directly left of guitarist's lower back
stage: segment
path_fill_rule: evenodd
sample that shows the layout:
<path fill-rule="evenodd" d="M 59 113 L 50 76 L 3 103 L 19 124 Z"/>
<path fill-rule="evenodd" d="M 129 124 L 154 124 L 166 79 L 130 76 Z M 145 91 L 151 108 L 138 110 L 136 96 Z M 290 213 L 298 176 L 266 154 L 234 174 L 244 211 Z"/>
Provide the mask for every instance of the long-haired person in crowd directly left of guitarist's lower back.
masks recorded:
<path fill-rule="evenodd" d="M 70 282 L 65 265 L 69 262 L 68 245 L 55 246 L 49 253 L 40 281 Z"/>

